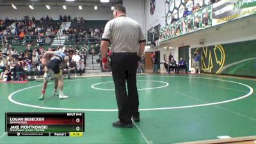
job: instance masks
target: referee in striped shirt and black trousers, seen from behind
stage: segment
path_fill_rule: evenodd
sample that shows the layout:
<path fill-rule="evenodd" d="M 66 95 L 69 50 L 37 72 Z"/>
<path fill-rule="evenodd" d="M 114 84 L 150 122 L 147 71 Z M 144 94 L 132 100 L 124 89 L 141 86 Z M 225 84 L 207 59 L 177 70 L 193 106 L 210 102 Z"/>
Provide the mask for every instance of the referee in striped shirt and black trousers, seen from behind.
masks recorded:
<path fill-rule="evenodd" d="M 115 19 L 109 20 L 102 35 L 102 65 L 104 70 L 107 70 L 106 56 L 109 42 L 111 42 L 113 52 L 111 68 L 119 118 L 113 123 L 113 127 L 132 127 L 131 118 L 134 122 L 140 122 L 136 70 L 144 52 L 146 40 L 140 24 L 126 17 L 124 6 L 116 5 L 113 15 Z M 127 83 L 128 93 L 125 83 Z"/>

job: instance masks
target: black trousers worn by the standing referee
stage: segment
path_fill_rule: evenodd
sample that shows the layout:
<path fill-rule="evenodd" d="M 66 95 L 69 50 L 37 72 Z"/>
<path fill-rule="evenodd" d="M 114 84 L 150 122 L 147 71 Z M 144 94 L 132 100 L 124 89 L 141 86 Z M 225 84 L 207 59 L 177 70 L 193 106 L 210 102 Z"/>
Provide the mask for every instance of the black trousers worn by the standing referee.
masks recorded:
<path fill-rule="evenodd" d="M 138 111 L 139 97 L 136 83 L 138 60 L 136 53 L 113 52 L 111 56 L 118 117 L 120 122 L 124 124 L 132 123 L 132 116 L 134 118 L 140 116 Z M 127 83 L 127 89 L 125 83 Z M 128 93 L 126 90 L 128 90 Z"/>

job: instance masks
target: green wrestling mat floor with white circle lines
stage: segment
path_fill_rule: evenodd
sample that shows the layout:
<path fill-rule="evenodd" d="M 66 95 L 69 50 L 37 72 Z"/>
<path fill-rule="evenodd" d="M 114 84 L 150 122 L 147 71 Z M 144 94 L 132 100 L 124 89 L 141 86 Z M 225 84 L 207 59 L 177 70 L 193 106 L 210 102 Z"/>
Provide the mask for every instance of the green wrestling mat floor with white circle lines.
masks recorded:
<path fill-rule="evenodd" d="M 118 120 L 111 76 L 65 79 L 59 100 L 49 83 L 38 100 L 42 80 L 0 83 L 0 143 L 182 143 L 256 135 L 255 79 L 212 75 L 138 76 L 141 122 L 115 128 Z M 83 137 L 8 137 L 6 112 L 84 112 Z"/>

